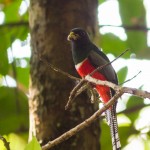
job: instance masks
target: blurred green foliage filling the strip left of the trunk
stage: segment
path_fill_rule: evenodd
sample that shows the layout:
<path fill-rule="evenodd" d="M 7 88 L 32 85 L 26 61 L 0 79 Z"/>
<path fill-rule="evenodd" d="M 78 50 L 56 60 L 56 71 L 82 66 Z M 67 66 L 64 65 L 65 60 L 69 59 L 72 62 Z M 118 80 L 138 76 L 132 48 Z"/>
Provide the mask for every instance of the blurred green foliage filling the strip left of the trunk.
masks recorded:
<path fill-rule="evenodd" d="M 29 84 L 29 58 L 24 58 L 27 64 L 22 67 L 22 58 L 13 56 L 12 50 L 12 43 L 16 39 L 26 40 L 29 32 L 27 24 L 22 23 L 28 21 L 27 11 L 20 13 L 22 3 L 22 0 L 0 1 L 0 13 L 4 14 L 0 25 L 0 134 L 7 135 L 5 137 L 13 150 L 25 148 L 29 130 L 26 93 Z M 8 77 L 15 85 L 9 84 Z M 5 150 L 2 141 L 0 149 Z"/>

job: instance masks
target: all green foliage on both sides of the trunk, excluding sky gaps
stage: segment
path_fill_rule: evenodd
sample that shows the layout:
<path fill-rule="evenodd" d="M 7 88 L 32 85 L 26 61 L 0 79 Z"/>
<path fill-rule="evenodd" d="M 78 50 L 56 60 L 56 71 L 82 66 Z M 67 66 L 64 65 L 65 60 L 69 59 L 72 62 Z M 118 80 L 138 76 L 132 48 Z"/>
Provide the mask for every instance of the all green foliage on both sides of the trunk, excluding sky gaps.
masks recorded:
<path fill-rule="evenodd" d="M 25 2 L 22 0 L 0 0 L 0 10 L 4 14 L 3 23 L 0 25 L 0 134 L 7 135 L 6 139 L 11 143 L 13 150 L 40 150 L 40 146 L 36 140 L 33 140 L 26 146 L 28 132 L 28 102 L 27 91 L 29 85 L 29 58 L 10 59 L 8 56 L 8 48 L 12 52 L 12 44 L 16 39 L 25 41 L 29 32 L 28 13 L 27 10 L 21 14 L 20 5 Z M 99 0 L 104 3 L 105 0 Z M 146 14 L 142 0 L 120 0 L 119 8 L 121 20 L 124 26 L 142 26 L 146 27 Z M 132 13 L 131 13 L 132 12 Z M 130 48 L 131 53 L 135 53 L 138 58 L 149 58 L 150 48 L 147 46 L 147 33 L 143 30 L 125 29 L 127 40 L 122 41 L 116 35 L 107 33 L 100 36 L 100 45 L 104 52 L 112 53 L 118 56 L 123 50 Z M 21 53 L 21 51 L 20 51 Z M 128 53 L 123 57 L 130 58 Z M 11 53 L 13 55 L 13 53 Z M 22 67 L 21 61 L 27 63 Z M 118 72 L 119 83 L 126 80 L 128 67 L 121 68 Z M 11 77 L 15 81 L 15 86 L 5 84 L 7 77 Z M 142 82 L 142 81 L 141 81 Z M 120 114 L 124 115 L 130 123 L 124 123 L 119 126 L 122 146 L 128 144 L 128 139 L 132 135 L 142 136 L 141 130 L 136 128 L 136 121 L 140 116 L 140 110 L 147 106 L 143 100 L 137 97 L 129 97 L 124 102 L 126 111 L 122 110 Z M 102 149 L 111 149 L 111 139 L 108 138 L 109 128 L 105 122 L 101 123 L 101 147 Z M 145 150 L 150 148 L 150 135 L 146 133 L 146 139 L 143 140 Z M 24 136 L 25 135 L 25 136 Z M 107 139 L 107 140 L 106 140 Z M 110 143 L 110 144 L 108 144 Z M 0 149 L 4 150 L 2 141 L 0 141 Z"/>

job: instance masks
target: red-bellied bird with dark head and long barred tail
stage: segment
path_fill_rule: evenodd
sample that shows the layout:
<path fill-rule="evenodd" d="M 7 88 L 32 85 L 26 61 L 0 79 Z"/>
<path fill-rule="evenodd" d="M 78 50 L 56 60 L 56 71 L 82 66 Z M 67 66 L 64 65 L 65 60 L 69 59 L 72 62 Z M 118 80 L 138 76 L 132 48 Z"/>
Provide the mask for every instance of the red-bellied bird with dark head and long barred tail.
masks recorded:
<path fill-rule="evenodd" d="M 68 40 L 71 41 L 75 68 L 81 77 L 85 77 L 97 67 L 110 62 L 107 56 L 90 41 L 89 35 L 82 28 L 72 29 L 68 35 Z M 92 77 L 118 84 L 117 75 L 111 64 L 105 66 L 99 71 L 96 71 Z M 94 88 L 97 90 L 104 104 L 107 103 L 115 94 L 113 89 L 106 86 L 94 85 Z M 113 150 L 120 150 L 121 144 L 118 135 L 116 103 L 106 110 L 105 114 L 111 131 Z"/>

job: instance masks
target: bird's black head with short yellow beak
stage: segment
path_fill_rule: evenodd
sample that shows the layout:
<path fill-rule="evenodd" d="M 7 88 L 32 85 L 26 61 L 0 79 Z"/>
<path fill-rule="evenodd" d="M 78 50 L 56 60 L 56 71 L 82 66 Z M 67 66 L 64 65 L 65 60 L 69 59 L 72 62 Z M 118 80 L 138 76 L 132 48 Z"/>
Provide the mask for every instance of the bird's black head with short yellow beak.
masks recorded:
<path fill-rule="evenodd" d="M 70 34 L 68 35 L 67 39 L 68 39 L 68 41 L 81 42 L 81 43 L 85 43 L 85 42 L 89 42 L 90 41 L 89 35 L 82 28 L 74 28 L 74 29 L 72 29 L 70 31 Z"/>

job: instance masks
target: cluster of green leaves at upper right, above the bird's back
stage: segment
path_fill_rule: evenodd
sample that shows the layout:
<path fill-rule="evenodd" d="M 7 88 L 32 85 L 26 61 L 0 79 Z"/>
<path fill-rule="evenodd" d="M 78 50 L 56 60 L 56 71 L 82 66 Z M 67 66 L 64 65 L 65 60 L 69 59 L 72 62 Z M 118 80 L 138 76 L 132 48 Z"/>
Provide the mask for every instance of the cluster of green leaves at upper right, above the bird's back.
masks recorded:
<path fill-rule="evenodd" d="M 116 35 L 107 33 L 101 35 L 102 48 L 106 53 L 113 53 L 115 56 L 119 55 L 121 50 L 130 48 L 131 53 L 136 54 L 137 58 L 149 59 L 150 48 L 147 46 L 146 13 L 143 1 L 118 0 L 118 3 L 127 40 L 122 41 Z M 123 57 L 129 58 L 129 55 Z"/>

